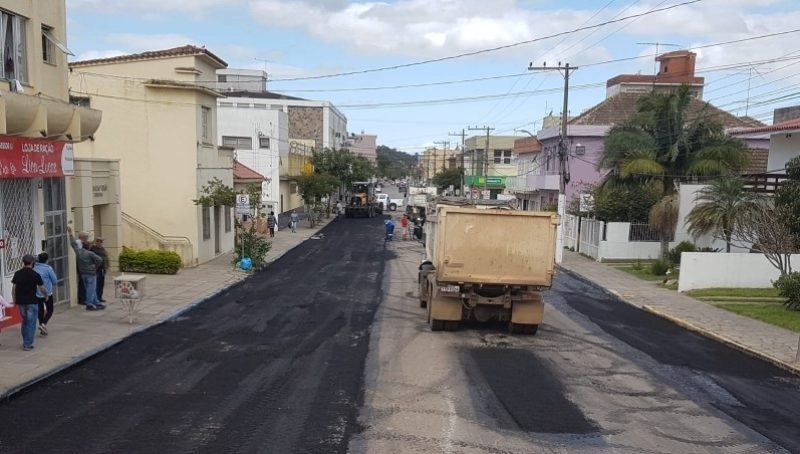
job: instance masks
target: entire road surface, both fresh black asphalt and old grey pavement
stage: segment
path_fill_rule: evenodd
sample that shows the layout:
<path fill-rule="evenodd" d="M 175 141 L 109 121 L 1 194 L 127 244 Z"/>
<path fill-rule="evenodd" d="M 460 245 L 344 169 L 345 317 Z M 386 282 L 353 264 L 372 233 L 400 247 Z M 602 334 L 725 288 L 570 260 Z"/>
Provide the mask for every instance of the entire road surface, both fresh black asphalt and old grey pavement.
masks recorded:
<path fill-rule="evenodd" d="M 0 404 L 0 453 L 800 453 L 800 379 L 566 273 L 536 336 L 430 332 L 422 247 L 382 231 L 337 220 Z"/>

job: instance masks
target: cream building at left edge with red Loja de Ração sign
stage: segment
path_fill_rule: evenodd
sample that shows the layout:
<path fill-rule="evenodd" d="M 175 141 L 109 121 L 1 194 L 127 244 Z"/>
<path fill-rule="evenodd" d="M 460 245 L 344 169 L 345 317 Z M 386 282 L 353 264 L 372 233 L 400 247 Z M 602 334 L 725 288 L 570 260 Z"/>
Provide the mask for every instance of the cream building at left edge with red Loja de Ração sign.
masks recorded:
<path fill-rule="evenodd" d="M 101 112 L 69 103 L 64 1 L 0 1 L 0 294 L 25 254 L 47 252 L 56 303 L 75 301 L 68 179 L 74 144 L 90 138 Z M 19 322 L 17 311 L 0 327 Z"/>

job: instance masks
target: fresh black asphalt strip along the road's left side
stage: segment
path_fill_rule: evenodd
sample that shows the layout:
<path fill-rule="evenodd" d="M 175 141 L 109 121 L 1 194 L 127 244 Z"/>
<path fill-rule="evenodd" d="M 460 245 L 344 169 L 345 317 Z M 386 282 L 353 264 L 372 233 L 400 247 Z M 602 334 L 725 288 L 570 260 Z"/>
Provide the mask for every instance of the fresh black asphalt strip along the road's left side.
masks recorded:
<path fill-rule="evenodd" d="M 0 404 L 0 453 L 345 452 L 389 256 L 379 218 L 324 233 Z"/>

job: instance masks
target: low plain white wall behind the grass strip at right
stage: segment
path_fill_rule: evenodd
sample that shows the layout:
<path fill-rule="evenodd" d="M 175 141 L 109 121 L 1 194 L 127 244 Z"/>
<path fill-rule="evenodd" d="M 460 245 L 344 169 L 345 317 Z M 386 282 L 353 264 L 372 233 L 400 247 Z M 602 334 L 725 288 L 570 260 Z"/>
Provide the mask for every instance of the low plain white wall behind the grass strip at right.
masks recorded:
<path fill-rule="evenodd" d="M 800 264 L 800 254 L 792 255 Z M 684 252 L 678 291 L 698 288 L 765 288 L 780 276 L 763 254 Z"/>

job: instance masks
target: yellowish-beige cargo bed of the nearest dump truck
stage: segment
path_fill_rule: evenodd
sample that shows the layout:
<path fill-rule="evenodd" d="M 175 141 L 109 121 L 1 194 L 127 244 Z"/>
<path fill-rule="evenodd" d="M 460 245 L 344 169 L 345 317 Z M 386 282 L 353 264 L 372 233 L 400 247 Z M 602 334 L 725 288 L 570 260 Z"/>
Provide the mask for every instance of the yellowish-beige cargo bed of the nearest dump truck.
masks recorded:
<path fill-rule="evenodd" d="M 555 213 L 440 205 L 427 223 L 427 255 L 440 283 L 552 283 Z"/>

